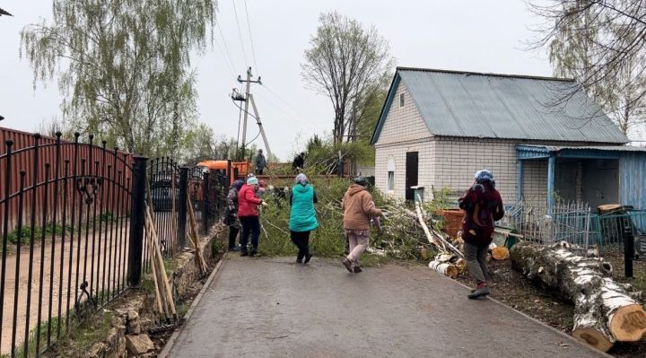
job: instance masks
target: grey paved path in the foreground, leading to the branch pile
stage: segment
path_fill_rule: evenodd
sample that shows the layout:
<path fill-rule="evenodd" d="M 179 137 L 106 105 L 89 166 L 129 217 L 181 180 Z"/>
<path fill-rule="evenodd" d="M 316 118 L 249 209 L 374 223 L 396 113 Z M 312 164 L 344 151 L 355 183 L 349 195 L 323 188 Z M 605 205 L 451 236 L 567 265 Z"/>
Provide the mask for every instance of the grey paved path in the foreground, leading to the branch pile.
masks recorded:
<path fill-rule="evenodd" d="M 603 357 L 423 266 L 227 258 L 170 357 Z"/>

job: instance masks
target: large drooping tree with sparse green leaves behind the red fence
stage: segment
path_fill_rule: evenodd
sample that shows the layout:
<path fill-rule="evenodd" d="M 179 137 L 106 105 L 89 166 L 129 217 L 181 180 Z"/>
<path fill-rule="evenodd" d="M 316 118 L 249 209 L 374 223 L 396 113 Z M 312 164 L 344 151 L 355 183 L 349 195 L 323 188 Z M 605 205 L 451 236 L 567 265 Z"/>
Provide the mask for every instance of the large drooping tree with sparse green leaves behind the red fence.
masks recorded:
<path fill-rule="evenodd" d="M 57 77 L 73 127 L 130 152 L 168 153 L 179 123 L 194 122 L 189 55 L 205 47 L 215 6 L 213 0 L 55 0 L 52 22 L 22 30 L 21 57 L 31 63 L 34 85 Z"/>

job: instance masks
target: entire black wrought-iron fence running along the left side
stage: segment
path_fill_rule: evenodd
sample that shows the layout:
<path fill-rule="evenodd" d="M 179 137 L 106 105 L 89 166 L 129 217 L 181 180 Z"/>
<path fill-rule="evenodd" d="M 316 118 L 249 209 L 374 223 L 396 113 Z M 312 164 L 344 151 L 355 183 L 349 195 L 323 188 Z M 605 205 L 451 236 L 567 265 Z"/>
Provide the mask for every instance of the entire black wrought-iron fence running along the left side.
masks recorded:
<path fill-rule="evenodd" d="M 108 149 L 92 135 L 87 143 L 60 136 L 33 135 L 32 145 L 16 150 L 7 139 L 0 150 L 0 354 L 10 357 L 39 356 L 79 319 L 140 283 L 148 179 L 168 256 L 185 246 L 190 186 L 210 188 L 168 158 Z M 203 198 L 205 223 L 213 223 L 220 206 L 211 203 L 221 200 Z"/>

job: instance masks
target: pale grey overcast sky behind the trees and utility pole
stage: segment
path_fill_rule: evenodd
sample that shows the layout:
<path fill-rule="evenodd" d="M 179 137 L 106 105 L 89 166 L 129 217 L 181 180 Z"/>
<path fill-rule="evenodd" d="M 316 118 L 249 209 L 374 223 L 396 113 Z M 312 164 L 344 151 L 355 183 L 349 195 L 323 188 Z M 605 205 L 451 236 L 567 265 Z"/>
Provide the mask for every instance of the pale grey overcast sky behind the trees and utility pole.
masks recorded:
<path fill-rule="evenodd" d="M 235 2 L 235 3 L 234 3 Z M 256 54 L 251 49 L 244 0 L 221 0 L 214 46 L 195 57 L 199 120 L 217 135 L 236 137 L 239 110 L 229 93 L 247 65 L 264 85 L 252 92 L 272 151 L 291 160 L 310 135 L 329 134 L 333 110 L 326 97 L 304 88 L 303 51 L 309 48 L 319 13 L 336 10 L 365 25 L 374 25 L 388 39 L 397 65 L 491 72 L 551 75 L 544 53 L 525 50 L 530 30 L 540 20 L 521 0 L 247 0 Z M 238 13 L 240 32 L 236 23 Z M 0 17 L 0 115 L 3 127 L 34 131 L 59 113 L 57 83 L 32 88 L 30 65 L 19 57 L 20 31 L 39 18 L 51 18 L 51 1 L 0 0 L 13 17 Z M 242 48 L 247 61 L 243 55 Z M 228 64 L 227 48 L 232 66 Z M 249 124 L 249 135 L 258 127 Z M 264 144 L 258 137 L 255 143 Z"/>

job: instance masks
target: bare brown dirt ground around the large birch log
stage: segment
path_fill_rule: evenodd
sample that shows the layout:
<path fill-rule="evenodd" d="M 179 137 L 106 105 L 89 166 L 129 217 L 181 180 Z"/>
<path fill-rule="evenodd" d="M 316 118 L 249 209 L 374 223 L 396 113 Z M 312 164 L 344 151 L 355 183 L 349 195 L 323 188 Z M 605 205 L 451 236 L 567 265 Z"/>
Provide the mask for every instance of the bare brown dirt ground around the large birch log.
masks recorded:
<path fill-rule="evenodd" d="M 621 248 L 604 248 L 602 256 L 613 265 L 616 281 L 631 283 L 637 290 L 646 289 L 646 262 L 635 262 L 634 278 L 629 279 L 624 277 L 624 254 Z M 572 332 L 574 306 L 571 302 L 563 301 L 555 293 L 531 284 L 511 268 L 510 260 L 491 261 L 489 267 L 493 272 L 490 287 L 494 299 L 567 334 Z M 473 285 L 468 273 L 458 276 L 458 281 Z M 638 358 L 644 357 L 644 352 L 646 340 L 617 343 L 608 354 L 621 358 Z"/>

